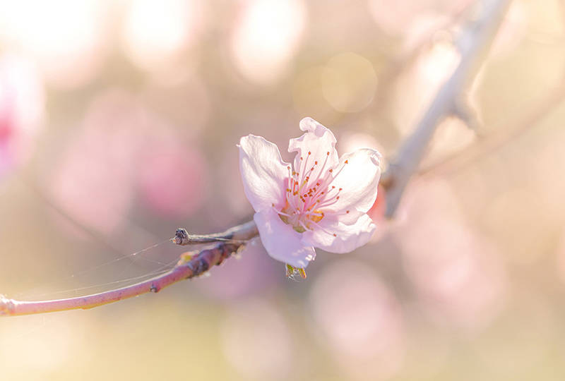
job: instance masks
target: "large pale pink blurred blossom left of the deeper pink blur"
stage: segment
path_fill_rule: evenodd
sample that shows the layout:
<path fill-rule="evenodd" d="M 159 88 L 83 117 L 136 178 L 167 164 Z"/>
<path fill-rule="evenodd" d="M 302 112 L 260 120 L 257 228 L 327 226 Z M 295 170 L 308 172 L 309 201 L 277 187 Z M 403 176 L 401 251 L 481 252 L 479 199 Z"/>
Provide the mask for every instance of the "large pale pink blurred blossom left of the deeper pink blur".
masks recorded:
<path fill-rule="evenodd" d="M 49 179 L 60 207 L 105 234 L 124 226 L 134 195 L 131 161 L 145 126 L 141 107 L 126 92 L 95 97 Z"/>

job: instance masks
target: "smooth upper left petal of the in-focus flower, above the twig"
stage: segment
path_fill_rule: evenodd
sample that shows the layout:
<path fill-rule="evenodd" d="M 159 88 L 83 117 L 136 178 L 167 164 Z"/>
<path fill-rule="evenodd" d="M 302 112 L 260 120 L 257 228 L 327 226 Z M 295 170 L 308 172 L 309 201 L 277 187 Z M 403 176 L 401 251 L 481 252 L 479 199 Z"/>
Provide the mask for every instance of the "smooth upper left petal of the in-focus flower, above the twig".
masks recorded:
<path fill-rule="evenodd" d="M 265 138 L 247 135 L 239 140 L 239 171 L 245 195 L 256 212 L 285 205 L 288 163 L 278 147 Z"/>

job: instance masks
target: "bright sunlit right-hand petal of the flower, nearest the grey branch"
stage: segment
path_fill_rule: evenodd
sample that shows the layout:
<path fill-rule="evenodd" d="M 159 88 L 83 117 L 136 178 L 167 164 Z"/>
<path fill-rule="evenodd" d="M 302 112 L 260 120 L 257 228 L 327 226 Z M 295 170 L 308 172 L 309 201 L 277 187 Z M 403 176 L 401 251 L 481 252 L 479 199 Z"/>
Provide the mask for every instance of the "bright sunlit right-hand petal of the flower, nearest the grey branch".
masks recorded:
<path fill-rule="evenodd" d="M 328 191 L 319 209 L 338 213 L 369 211 L 375 202 L 381 178 L 380 156 L 379 152 L 370 148 L 343 155 L 339 166 L 333 170 L 335 177 L 331 186 L 335 188 Z"/>

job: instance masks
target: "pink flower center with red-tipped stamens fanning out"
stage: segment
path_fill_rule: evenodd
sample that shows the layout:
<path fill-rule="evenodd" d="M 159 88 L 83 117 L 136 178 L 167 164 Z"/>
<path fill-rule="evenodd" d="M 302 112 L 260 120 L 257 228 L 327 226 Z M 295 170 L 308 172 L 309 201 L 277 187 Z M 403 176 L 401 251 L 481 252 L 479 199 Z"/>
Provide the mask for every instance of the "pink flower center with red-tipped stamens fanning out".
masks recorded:
<path fill-rule="evenodd" d="M 310 151 L 306 159 L 300 157 L 298 171 L 287 167 L 289 176 L 286 202 L 277 212 L 285 224 L 292 225 L 292 229 L 299 233 L 319 228 L 318 222 L 325 215 L 323 210 L 338 202 L 340 198 L 343 189 L 336 188 L 332 183 L 347 164 L 347 160 L 334 173 L 333 168 L 326 169 L 329 155 L 330 152 L 326 152 L 326 159 L 321 167 L 318 167 L 317 160 L 309 164 Z"/>

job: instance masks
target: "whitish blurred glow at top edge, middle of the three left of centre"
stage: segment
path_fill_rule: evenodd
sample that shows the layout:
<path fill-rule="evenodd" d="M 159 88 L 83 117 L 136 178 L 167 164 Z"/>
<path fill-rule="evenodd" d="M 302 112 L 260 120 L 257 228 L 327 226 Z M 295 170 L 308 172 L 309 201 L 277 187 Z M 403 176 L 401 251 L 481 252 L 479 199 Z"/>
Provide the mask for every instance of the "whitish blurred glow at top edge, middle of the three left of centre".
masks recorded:
<path fill-rule="evenodd" d="M 162 70 L 194 42 L 200 28 L 197 1 L 132 0 L 124 25 L 124 49 L 140 68 Z"/>

